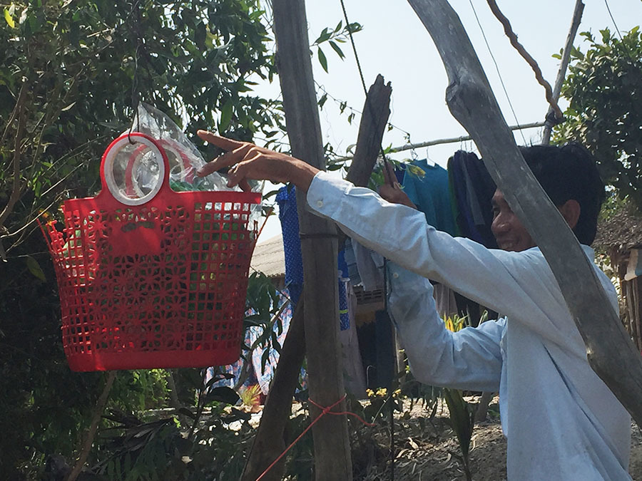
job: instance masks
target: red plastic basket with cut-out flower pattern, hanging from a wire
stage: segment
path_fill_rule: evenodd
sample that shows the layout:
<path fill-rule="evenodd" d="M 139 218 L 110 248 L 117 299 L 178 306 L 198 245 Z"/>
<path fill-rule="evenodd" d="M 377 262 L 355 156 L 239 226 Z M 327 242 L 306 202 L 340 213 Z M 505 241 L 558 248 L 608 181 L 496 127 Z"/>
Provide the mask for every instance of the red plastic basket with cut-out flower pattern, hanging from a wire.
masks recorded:
<path fill-rule="evenodd" d="M 128 195 L 131 182 L 124 195 L 114 187 L 113 159 L 130 143 L 158 160 L 157 185 L 138 198 Z M 236 361 L 256 237 L 250 206 L 260 194 L 174 192 L 165 151 L 140 133 L 109 145 L 101 181 L 96 197 L 64 202 L 62 232 L 54 221 L 43 228 L 71 369 Z"/>

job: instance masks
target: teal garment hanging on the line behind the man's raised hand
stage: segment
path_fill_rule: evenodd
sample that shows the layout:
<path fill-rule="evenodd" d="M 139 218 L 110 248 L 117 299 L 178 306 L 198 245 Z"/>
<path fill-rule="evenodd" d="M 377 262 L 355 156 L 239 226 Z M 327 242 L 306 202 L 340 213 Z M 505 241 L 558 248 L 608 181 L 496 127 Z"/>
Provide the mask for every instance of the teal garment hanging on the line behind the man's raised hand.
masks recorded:
<path fill-rule="evenodd" d="M 424 212 L 428 224 L 452 236 L 459 234 L 452 214 L 448 172 L 426 159 L 413 160 L 406 167 L 404 192 Z"/>

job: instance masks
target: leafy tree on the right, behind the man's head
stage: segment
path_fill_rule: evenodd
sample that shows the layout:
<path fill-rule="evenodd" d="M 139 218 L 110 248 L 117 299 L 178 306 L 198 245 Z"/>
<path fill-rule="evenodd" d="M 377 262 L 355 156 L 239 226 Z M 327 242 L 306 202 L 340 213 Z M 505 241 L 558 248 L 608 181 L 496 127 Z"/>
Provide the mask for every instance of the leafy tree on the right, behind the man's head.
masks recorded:
<path fill-rule="evenodd" d="M 558 143 L 579 140 L 593 152 L 603 180 L 642 207 L 642 35 L 638 27 L 619 38 L 581 33 L 588 50 L 574 49 L 562 95 L 568 120 Z"/>

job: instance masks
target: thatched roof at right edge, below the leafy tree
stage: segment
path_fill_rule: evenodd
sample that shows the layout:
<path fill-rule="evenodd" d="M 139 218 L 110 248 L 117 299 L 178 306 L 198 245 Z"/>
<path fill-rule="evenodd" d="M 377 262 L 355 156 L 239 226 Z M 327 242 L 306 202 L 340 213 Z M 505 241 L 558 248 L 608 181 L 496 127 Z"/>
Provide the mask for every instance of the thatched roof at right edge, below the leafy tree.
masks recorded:
<path fill-rule="evenodd" d="M 626 203 L 602 215 L 593 247 L 628 250 L 642 247 L 642 214 Z"/>

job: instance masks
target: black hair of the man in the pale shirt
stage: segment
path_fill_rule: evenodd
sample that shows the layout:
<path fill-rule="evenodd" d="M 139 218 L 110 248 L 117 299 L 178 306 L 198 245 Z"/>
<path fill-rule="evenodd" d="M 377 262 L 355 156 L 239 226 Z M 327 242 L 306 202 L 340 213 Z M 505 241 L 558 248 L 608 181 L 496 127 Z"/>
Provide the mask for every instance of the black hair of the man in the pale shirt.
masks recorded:
<path fill-rule="evenodd" d="M 563 147 L 533 145 L 521 147 L 521 155 L 531 167 L 541 187 L 557 207 L 574 199 L 580 205 L 575 235 L 591 245 L 597 232 L 597 219 L 606 197 L 593 156 L 579 143 Z"/>

